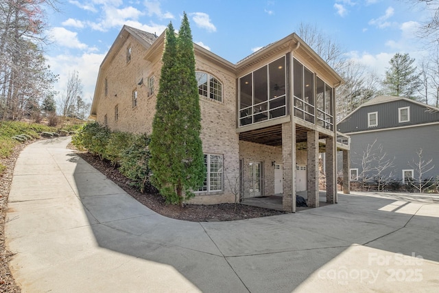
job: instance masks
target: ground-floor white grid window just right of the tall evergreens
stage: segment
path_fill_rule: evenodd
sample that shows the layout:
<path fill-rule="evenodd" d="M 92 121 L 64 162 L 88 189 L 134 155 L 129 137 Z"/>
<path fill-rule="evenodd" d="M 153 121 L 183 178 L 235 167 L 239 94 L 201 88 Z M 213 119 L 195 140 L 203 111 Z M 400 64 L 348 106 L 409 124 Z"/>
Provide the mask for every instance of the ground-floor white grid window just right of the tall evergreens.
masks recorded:
<path fill-rule="evenodd" d="M 222 161 L 221 154 L 204 154 L 206 177 L 198 191 L 222 191 Z"/>

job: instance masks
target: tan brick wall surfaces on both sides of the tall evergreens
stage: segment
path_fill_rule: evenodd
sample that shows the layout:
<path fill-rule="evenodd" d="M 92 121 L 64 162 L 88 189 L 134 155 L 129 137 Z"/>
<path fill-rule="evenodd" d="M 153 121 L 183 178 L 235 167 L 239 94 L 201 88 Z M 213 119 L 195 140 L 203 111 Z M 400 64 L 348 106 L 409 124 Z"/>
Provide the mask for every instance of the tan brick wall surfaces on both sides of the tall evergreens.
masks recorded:
<path fill-rule="evenodd" d="M 127 62 L 126 51 L 131 47 L 131 60 Z M 145 48 L 132 36 L 121 47 L 108 68 L 100 74 L 108 80 L 108 95 L 99 98 L 97 105 L 97 121 L 104 124 L 107 115 L 108 127 L 111 130 L 121 130 L 134 133 L 151 133 L 152 121 L 155 114 L 156 93 L 161 73 L 161 60 L 150 62 L 144 60 Z M 239 137 L 235 131 L 235 75 L 218 69 L 207 60 L 199 57 L 195 69 L 209 73 L 222 82 L 222 102 L 207 97 L 200 97 L 202 116 L 202 147 L 204 153 L 222 154 L 224 164 L 224 192 L 197 193 L 190 200 L 197 204 L 215 204 L 219 202 L 234 202 L 235 196 L 230 191 L 226 176 L 231 182 L 239 176 Z M 154 75 L 154 95 L 148 97 L 147 80 Z M 143 78 L 143 84 L 139 80 Z M 104 86 L 104 82 L 102 83 Z M 132 107 L 132 92 L 138 92 L 137 106 Z M 119 119 L 115 121 L 115 106 L 119 108 Z"/>

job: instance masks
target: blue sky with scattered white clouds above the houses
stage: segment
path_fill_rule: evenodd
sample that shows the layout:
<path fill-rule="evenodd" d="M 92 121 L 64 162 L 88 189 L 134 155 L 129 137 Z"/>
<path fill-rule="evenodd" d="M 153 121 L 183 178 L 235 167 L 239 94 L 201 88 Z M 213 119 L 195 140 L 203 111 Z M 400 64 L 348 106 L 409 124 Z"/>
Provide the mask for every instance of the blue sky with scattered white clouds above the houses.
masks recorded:
<path fill-rule="evenodd" d="M 420 60 L 427 47 L 414 36 L 429 18 L 423 5 L 407 0 L 65 0 L 62 12 L 48 12 L 51 44 L 47 58 L 60 75 L 62 93 L 69 72 L 78 71 L 84 98 L 91 102 L 97 71 L 126 24 L 161 34 L 183 11 L 193 41 L 237 62 L 260 47 L 296 32 L 300 23 L 316 25 L 346 50 L 346 56 L 383 75 L 396 52 Z"/>

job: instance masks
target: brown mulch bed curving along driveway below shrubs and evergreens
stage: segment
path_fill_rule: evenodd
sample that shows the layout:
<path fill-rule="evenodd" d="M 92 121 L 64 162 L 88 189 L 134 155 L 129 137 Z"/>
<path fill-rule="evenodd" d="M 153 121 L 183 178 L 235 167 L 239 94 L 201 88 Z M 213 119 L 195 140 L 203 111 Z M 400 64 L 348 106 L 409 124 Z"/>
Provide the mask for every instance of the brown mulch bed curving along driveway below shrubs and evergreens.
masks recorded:
<path fill-rule="evenodd" d="M 71 145 L 69 145 L 71 147 Z M 266 217 L 268 215 L 281 215 L 283 211 L 275 211 L 272 209 L 263 209 L 261 207 L 251 207 L 244 204 L 185 204 L 180 207 L 175 204 L 165 204 L 165 200 L 159 194 L 142 194 L 136 188 L 130 186 L 130 181 L 113 168 L 106 160 L 101 161 L 99 157 L 93 156 L 87 152 L 77 153 L 84 161 L 102 172 L 107 178 L 119 185 L 130 196 L 144 204 L 146 207 L 165 215 L 169 218 L 178 220 L 186 220 L 191 222 L 206 221 L 232 221 L 250 218 Z"/>

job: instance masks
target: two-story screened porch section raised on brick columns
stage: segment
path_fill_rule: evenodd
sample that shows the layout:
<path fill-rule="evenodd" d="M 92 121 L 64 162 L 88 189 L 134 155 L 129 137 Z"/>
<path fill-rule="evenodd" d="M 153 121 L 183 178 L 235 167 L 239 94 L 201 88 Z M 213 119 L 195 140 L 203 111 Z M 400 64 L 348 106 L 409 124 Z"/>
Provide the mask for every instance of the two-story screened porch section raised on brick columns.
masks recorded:
<path fill-rule="evenodd" d="M 341 145 L 334 128 L 335 87 L 343 82 L 340 75 L 296 34 L 239 62 L 238 72 L 244 198 L 281 195 L 283 209 L 296 211 L 296 192 L 306 191 L 308 204 L 318 207 L 319 152 L 324 152 L 326 201 L 336 202 L 335 150 Z"/>

